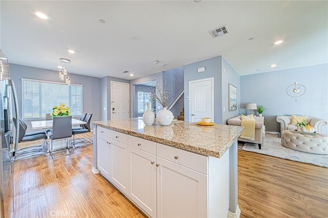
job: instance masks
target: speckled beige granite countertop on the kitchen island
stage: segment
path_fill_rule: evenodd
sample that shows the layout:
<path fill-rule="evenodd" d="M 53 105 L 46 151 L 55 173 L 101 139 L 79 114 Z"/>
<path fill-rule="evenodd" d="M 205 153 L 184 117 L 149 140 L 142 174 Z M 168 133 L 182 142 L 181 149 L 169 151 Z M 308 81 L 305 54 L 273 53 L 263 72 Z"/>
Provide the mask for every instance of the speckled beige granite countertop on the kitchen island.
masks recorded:
<path fill-rule="evenodd" d="M 241 126 L 223 124 L 200 126 L 185 121 L 172 122 L 169 126 L 161 126 L 156 121 L 153 125 L 147 126 L 141 118 L 92 123 L 131 136 L 216 158 L 223 156 L 243 130 Z"/>

